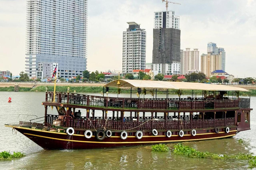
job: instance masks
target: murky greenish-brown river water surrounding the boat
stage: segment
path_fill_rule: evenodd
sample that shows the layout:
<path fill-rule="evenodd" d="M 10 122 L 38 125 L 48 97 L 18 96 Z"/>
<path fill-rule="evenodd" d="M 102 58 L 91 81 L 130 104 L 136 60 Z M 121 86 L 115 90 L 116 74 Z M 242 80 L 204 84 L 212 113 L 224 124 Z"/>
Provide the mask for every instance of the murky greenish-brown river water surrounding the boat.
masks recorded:
<path fill-rule="evenodd" d="M 128 94 L 122 96 L 129 97 Z M 12 103 L 7 103 L 9 97 L 12 98 Z M 247 169 L 248 167 L 247 160 L 193 159 L 172 155 L 171 152 L 153 152 L 150 145 L 110 149 L 44 150 L 21 133 L 12 134 L 11 128 L 4 127 L 8 114 L 44 116 L 44 107 L 41 105 L 44 100 L 45 93 L 0 92 L 0 151 L 20 151 L 26 154 L 25 157 L 12 161 L 0 161 L 0 169 Z M 251 108 L 255 106 L 256 97 L 251 97 Z M 51 112 L 57 113 L 48 109 L 48 114 Z M 232 138 L 184 142 L 184 144 L 200 151 L 217 154 L 242 152 L 256 155 L 256 135 L 253 133 L 256 130 L 254 113 L 255 111 L 251 112 L 251 130 L 239 132 Z M 243 143 L 238 142 L 240 138 L 244 140 Z M 168 146 L 172 149 L 174 144 Z"/>

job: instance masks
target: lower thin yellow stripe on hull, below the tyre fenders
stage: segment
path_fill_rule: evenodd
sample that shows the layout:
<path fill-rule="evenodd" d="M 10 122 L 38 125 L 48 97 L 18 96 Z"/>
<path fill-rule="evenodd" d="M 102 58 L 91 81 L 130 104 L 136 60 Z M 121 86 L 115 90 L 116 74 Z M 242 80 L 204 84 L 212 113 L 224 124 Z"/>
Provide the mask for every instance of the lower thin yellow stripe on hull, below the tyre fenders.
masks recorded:
<path fill-rule="evenodd" d="M 218 139 L 218 138 L 225 138 L 230 136 L 235 136 L 236 134 L 231 134 L 227 136 L 219 136 L 219 137 L 210 137 L 210 138 L 202 138 L 202 139 L 186 139 L 186 140 L 163 140 L 163 141 L 138 141 L 138 142 L 97 142 L 97 141 L 82 141 L 82 140 L 70 140 L 70 139 L 59 139 L 54 137 L 47 137 L 41 136 L 36 134 L 24 133 L 31 136 L 43 137 L 47 139 L 54 139 L 54 140 L 62 140 L 62 141 L 70 141 L 70 142 L 83 142 L 83 143 L 108 143 L 108 144 L 123 144 L 123 143 L 160 143 L 160 142 L 184 142 L 184 141 L 193 141 L 193 140 L 207 140 L 207 139 Z"/>

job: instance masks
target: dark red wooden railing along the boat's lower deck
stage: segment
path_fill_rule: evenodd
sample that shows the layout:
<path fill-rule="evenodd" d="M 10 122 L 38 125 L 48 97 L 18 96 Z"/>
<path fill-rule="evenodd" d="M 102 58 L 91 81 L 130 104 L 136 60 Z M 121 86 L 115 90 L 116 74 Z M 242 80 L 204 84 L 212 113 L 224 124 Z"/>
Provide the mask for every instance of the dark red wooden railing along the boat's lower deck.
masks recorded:
<path fill-rule="evenodd" d="M 114 130 L 180 130 L 202 129 L 235 126 L 235 118 L 210 120 L 179 120 L 179 121 L 113 121 L 101 119 L 71 119 L 67 118 L 66 127 L 81 129 L 109 128 Z"/>

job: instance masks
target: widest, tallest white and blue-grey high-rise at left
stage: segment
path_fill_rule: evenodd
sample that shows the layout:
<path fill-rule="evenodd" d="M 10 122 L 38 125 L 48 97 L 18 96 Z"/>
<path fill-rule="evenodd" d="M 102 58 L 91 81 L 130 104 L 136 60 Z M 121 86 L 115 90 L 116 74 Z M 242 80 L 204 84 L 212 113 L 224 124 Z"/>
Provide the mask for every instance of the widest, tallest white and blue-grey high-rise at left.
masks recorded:
<path fill-rule="evenodd" d="M 59 63 L 60 77 L 80 75 L 87 66 L 88 0 L 27 0 L 26 64 L 29 77 L 38 63 Z"/>

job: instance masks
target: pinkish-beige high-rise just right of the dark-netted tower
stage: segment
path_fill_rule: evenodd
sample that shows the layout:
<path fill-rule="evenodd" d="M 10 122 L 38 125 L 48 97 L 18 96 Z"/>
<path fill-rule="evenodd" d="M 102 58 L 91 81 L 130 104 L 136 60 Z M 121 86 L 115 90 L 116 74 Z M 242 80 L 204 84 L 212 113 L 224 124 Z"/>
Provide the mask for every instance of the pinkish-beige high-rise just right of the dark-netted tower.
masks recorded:
<path fill-rule="evenodd" d="M 180 73 L 189 74 L 199 71 L 199 51 L 197 48 L 190 51 L 190 48 L 180 50 Z"/>

